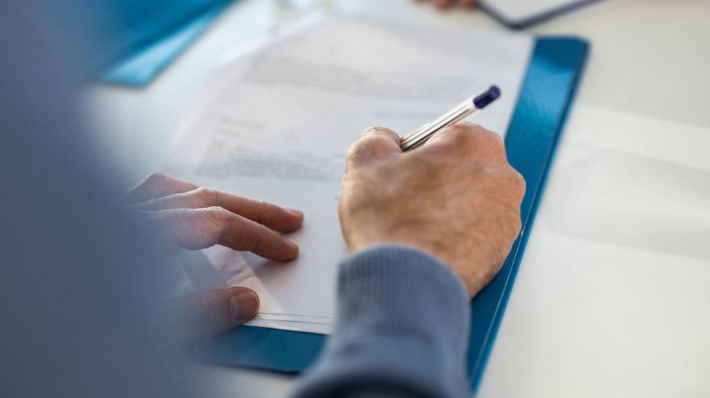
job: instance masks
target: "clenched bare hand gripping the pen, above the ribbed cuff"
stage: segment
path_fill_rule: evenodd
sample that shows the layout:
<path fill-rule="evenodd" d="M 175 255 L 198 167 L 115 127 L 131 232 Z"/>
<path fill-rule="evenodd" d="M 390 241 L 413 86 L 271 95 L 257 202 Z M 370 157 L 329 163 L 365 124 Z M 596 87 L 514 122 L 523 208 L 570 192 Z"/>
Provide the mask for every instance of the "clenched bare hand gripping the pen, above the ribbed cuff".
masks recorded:
<path fill-rule="evenodd" d="M 471 297 L 501 268 L 520 232 L 525 181 L 501 137 L 449 127 L 403 153 L 391 130 L 366 130 L 351 148 L 340 193 L 349 249 L 407 244 L 446 263 Z"/>

